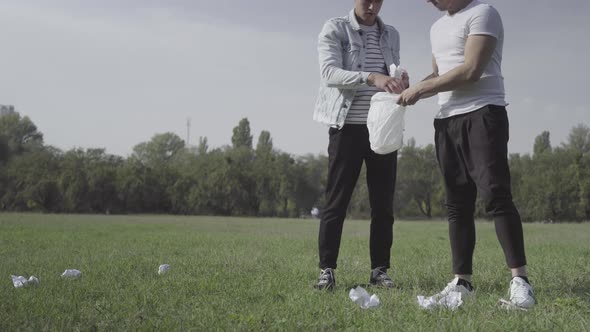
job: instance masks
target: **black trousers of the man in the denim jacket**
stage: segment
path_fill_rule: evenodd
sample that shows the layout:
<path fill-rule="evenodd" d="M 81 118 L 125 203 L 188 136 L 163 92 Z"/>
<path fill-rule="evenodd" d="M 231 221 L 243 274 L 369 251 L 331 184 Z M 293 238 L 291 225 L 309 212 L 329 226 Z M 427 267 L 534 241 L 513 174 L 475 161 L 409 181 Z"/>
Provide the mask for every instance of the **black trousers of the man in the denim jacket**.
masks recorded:
<path fill-rule="evenodd" d="M 373 152 L 366 125 L 347 124 L 341 130 L 330 128 L 329 135 L 327 201 L 320 221 L 319 266 L 336 268 L 346 209 L 364 160 L 371 204 L 371 268 L 389 268 L 397 152 L 387 155 Z"/>

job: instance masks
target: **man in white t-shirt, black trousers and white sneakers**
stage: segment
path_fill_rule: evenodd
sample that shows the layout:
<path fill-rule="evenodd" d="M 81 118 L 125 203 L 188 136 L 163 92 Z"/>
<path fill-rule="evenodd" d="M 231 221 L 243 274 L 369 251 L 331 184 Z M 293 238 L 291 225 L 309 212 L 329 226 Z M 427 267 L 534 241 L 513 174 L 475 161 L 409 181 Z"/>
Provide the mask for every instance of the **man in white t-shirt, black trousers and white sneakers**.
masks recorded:
<path fill-rule="evenodd" d="M 436 152 L 444 176 L 455 279 L 449 292 L 473 295 L 475 199 L 481 194 L 512 272 L 510 301 L 534 305 L 526 272 L 520 215 L 512 201 L 508 118 L 501 72 L 504 29 L 499 13 L 479 0 L 428 0 L 446 14 L 430 30 L 433 73 L 405 90 L 401 105 L 438 94 Z"/>

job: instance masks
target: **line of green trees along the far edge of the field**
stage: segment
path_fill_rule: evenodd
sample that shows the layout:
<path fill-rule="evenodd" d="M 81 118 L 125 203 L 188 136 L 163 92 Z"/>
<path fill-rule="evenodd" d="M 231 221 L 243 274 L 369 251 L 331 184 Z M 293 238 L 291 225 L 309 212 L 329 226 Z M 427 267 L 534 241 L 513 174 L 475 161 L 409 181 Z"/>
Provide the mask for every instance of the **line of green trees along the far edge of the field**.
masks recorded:
<path fill-rule="evenodd" d="M 511 154 L 513 195 L 525 221 L 590 220 L 590 128 L 572 128 L 553 147 L 549 132 L 532 154 Z M 45 145 L 26 116 L 0 114 L 0 209 L 49 213 L 170 213 L 302 217 L 324 204 L 328 158 L 275 149 L 270 132 L 254 146 L 248 119 L 231 145 L 210 148 L 206 137 L 186 146 L 174 133 L 156 134 L 127 158 L 105 149 L 62 151 Z M 349 216 L 368 218 L 365 172 Z M 433 145 L 409 139 L 398 156 L 397 218 L 444 218 L 444 189 Z M 478 203 L 478 217 L 485 217 Z"/>

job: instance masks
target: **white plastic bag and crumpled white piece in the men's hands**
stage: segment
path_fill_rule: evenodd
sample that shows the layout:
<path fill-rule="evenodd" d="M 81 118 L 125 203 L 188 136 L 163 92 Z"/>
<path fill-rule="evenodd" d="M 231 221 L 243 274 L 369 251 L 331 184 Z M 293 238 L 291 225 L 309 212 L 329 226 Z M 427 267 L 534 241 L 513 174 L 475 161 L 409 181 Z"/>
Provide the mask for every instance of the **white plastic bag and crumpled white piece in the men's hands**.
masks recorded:
<path fill-rule="evenodd" d="M 393 77 L 401 78 L 404 70 L 391 65 Z M 406 108 L 398 105 L 399 95 L 378 92 L 371 98 L 371 107 L 367 116 L 369 142 L 371 150 L 377 154 L 388 154 L 403 146 Z"/>

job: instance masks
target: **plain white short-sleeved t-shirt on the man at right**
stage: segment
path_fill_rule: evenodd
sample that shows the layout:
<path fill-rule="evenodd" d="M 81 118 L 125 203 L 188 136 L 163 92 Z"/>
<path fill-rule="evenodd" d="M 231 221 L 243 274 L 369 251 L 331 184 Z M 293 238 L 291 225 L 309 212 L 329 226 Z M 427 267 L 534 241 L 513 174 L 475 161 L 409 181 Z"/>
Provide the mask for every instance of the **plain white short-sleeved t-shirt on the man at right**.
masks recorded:
<path fill-rule="evenodd" d="M 463 10 L 453 15 L 447 13 L 432 25 L 430 41 L 438 74 L 443 75 L 465 62 L 465 44 L 471 35 L 495 37 L 496 50 L 479 81 L 438 94 L 438 119 L 469 113 L 486 105 L 507 105 L 501 71 L 504 27 L 498 11 L 488 4 L 473 0 Z"/>

